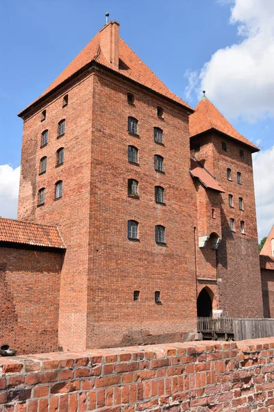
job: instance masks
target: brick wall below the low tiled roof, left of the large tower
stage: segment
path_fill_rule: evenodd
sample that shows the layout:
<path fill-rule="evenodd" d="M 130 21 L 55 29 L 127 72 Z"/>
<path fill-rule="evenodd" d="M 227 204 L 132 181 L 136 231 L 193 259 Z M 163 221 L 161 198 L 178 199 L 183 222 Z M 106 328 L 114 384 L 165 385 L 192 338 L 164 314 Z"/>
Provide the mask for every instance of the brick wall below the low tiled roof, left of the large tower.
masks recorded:
<path fill-rule="evenodd" d="M 0 346 L 58 350 L 62 254 L 0 247 Z"/>

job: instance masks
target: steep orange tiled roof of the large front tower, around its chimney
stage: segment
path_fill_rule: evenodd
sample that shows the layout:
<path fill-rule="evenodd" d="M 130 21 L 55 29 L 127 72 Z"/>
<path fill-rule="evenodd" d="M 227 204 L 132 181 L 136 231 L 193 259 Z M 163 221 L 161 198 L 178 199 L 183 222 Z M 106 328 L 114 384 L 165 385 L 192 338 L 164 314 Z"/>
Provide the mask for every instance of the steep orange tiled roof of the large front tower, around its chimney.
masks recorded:
<path fill-rule="evenodd" d="M 142 60 L 132 51 L 127 43 L 125 43 L 121 39 L 121 37 L 119 38 L 120 65 L 119 69 L 114 67 L 114 65 L 108 62 L 108 60 L 105 58 L 103 52 L 101 52 L 100 36 L 101 33 L 97 33 L 96 36 L 93 37 L 92 40 L 88 43 L 88 45 L 86 45 L 86 47 L 82 49 L 82 52 L 80 52 L 73 59 L 69 66 L 67 66 L 66 69 L 62 71 L 60 76 L 58 76 L 58 78 L 56 78 L 51 83 L 47 90 L 42 93 L 42 95 L 40 95 L 37 100 L 32 102 L 32 104 L 37 102 L 43 96 L 47 95 L 47 93 L 55 89 L 55 87 L 58 87 L 62 82 L 71 78 L 71 76 L 73 76 L 73 74 L 75 74 L 79 69 L 82 69 L 83 67 L 88 65 L 88 63 L 92 62 L 92 60 L 95 60 L 101 65 L 108 67 L 113 71 L 116 71 L 116 73 L 120 73 L 123 76 L 134 80 L 135 82 L 138 82 L 139 84 L 142 84 L 149 89 L 156 91 L 171 100 L 174 100 L 179 104 L 186 106 L 190 109 L 191 112 L 193 111 L 193 109 L 188 106 L 188 104 L 186 104 L 184 100 L 180 99 L 164 85 L 164 83 L 153 73 L 153 71 L 151 71 L 151 69 L 149 69 L 149 67 L 147 67 L 147 65 L 145 65 L 144 62 L 142 62 Z M 32 104 L 30 104 L 28 107 L 32 106 Z M 23 111 L 21 113 L 23 113 Z M 21 115 L 21 113 L 19 113 L 19 115 Z"/>

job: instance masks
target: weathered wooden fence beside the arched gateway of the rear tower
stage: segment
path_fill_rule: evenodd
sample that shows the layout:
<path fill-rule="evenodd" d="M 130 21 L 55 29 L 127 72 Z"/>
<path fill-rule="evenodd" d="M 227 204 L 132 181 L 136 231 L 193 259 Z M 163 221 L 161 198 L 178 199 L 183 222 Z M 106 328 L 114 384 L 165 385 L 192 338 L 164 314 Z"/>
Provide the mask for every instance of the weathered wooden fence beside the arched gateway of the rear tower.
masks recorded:
<path fill-rule="evenodd" d="M 235 319 L 232 317 L 198 317 L 197 332 L 203 339 L 269 338 L 274 336 L 274 319 Z"/>

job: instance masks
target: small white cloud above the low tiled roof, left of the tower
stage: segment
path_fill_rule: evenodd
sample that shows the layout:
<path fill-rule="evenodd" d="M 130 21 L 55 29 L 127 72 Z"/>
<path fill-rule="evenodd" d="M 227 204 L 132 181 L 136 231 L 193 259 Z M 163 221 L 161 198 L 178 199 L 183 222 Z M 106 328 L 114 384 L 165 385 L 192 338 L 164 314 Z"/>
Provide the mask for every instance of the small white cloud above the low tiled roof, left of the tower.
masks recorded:
<path fill-rule="evenodd" d="M 0 165 L 0 216 L 15 218 L 19 192 L 20 167 Z"/>

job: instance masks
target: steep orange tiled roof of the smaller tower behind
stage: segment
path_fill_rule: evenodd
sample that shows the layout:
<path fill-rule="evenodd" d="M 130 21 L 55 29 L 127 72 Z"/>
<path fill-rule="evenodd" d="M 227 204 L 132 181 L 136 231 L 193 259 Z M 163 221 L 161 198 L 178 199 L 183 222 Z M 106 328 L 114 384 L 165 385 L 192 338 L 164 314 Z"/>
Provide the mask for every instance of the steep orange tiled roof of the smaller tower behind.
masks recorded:
<path fill-rule="evenodd" d="M 208 100 L 202 98 L 195 107 L 195 113 L 189 117 L 190 137 L 199 135 L 208 130 L 215 129 L 225 135 L 247 144 L 253 152 L 258 152 L 258 147 L 255 146 L 246 137 L 240 135 L 237 130 L 228 122 L 227 119 L 219 112 L 219 110 Z"/>

